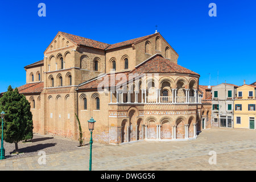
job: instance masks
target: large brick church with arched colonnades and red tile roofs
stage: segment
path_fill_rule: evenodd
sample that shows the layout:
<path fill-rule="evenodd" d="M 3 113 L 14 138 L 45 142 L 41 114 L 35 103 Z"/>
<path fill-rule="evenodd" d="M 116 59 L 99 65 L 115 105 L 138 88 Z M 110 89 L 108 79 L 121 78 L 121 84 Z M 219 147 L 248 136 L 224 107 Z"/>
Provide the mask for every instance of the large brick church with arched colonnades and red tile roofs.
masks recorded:
<path fill-rule="evenodd" d="M 31 103 L 34 133 L 77 139 L 77 115 L 85 138 L 96 120 L 101 143 L 196 139 L 211 104 L 199 97 L 200 75 L 178 57 L 159 32 L 117 44 L 58 32 L 44 59 L 24 67 L 18 89 Z"/>

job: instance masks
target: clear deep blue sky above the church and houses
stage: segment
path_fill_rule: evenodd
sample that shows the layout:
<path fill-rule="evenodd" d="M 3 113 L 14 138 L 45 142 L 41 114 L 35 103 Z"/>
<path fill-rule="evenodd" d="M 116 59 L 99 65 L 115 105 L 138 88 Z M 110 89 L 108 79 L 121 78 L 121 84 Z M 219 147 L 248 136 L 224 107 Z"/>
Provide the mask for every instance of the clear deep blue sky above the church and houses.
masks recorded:
<path fill-rule="evenodd" d="M 38 16 L 39 3 L 46 17 Z M 210 3 L 217 17 L 210 17 Z M 4 1 L 0 6 L 0 92 L 26 84 L 58 31 L 118 43 L 158 31 L 200 85 L 256 81 L 256 1 Z M 217 77 L 218 75 L 218 77 Z"/>

